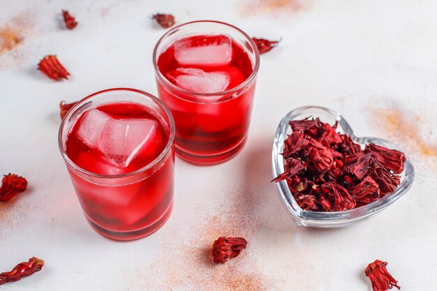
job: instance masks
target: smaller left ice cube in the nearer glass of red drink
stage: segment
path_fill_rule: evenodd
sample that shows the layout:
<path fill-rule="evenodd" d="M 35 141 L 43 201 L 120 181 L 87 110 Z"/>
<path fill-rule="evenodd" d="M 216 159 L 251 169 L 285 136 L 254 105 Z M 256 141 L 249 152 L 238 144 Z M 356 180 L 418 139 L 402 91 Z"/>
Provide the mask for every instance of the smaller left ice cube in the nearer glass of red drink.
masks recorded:
<path fill-rule="evenodd" d="M 106 121 L 110 117 L 97 109 L 91 109 L 84 113 L 80 121 L 77 135 L 87 144 L 88 147 L 96 148 L 98 146 L 98 137 L 100 137 Z"/>

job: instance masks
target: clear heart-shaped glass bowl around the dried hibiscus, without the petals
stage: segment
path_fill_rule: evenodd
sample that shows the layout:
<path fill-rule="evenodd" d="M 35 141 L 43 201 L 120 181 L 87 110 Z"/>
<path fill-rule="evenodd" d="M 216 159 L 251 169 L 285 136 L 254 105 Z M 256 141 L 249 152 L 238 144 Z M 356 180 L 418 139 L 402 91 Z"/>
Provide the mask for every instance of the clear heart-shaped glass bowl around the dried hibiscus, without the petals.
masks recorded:
<path fill-rule="evenodd" d="M 338 112 L 330 110 L 325 107 L 306 106 L 299 107 L 289 112 L 283 119 L 276 130 L 274 137 L 273 151 L 272 151 L 272 167 L 273 177 L 278 177 L 279 174 L 284 172 L 284 160 L 281 153 L 284 149 L 284 141 L 288 135 L 292 132 L 289 122 L 291 120 L 304 119 L 306 117 L 318 117 L 320 121 L 325 123 L 334 124 L 335 121 L 339 122 L 337 130 L 341 133 L 346 133 L 354 142 L 358 144 L 374 143 L 389 149 L 399 149 L 396 144 L 376 137 L 358 137 L 353 133 L 352 128 L 348 122 L 341 117 Z M 405 151 L 403 151 L 405 153 Z M 398 188 L 388 195 L 376 200 L 375 202 L 366 204 L 362 207 L 355 209 L 348 209 L 345 211 L 333 211 L 333 212 L 321 212 L 321 211 L 307 211 L 299 207 L 295 198 L 292 196 L 290 189 L 288 188 L 286 180 L 276 182 L 276 186 L 279 190 L 279 195 L 286 208 L 291 214 L 292 220 L 297 225 L 307 227 L 343 227 L 357 221 L 361 221 L 364 218 L 368 218 L 373 214 L 385 209 L 399 197 L 408 191 L 413 184 L 414 169 L 408 156 L 406 157 L 405 168 L 401 173 L 401 184 Z"/>

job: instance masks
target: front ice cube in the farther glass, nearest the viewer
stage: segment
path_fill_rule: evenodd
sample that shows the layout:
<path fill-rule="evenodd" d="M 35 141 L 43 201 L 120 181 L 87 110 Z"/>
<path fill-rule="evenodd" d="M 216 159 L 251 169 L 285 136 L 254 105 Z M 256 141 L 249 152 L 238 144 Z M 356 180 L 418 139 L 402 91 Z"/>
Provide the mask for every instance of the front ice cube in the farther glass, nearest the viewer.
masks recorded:
<path fill-rule="evenodd" d="M 225 91 L 230 83 L 230 76 L 226 72 L 207 73 L 199 68 L 177 68 L 168 73 L 168 78 L 178 87 L 197 93 Z"/>

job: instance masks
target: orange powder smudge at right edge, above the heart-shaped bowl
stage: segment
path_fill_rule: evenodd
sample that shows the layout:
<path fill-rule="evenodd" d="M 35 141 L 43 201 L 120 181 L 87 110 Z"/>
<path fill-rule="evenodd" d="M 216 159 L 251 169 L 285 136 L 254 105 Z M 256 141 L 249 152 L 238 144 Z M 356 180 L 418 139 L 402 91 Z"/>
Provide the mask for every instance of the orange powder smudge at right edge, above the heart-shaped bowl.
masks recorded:
<path fill-rule="evenodd" d="M 388 137 L 406 147 L 409 152 L 422 156 L 437 156 L 437 144 L 427 138 L 431 133 L 422 135 L 424 124 L 419 115 L 397 107 L 372 110 L 372 114 Z"/>

